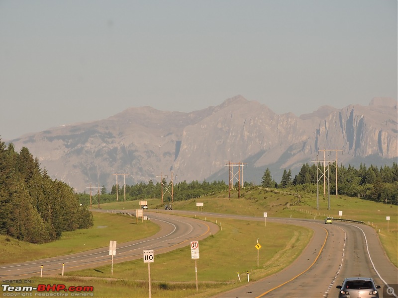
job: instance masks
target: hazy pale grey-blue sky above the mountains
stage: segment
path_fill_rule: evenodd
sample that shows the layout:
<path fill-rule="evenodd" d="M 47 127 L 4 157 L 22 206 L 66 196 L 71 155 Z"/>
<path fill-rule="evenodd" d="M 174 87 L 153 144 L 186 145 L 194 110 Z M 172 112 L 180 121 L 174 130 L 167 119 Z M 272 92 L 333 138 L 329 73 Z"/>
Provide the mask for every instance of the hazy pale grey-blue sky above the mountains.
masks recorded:
<path fill-rule="evenodd" d="M 0 0 L 0 137 L 242 95 L 397 100 L 397 0 Z"/>

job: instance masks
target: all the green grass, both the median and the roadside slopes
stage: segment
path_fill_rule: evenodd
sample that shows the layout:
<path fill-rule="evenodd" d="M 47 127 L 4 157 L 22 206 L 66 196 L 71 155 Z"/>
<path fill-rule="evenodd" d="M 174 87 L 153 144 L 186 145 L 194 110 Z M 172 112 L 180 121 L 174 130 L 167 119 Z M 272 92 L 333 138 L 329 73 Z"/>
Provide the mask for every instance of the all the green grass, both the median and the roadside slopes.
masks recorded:
<path fill-rule="evenodd" d="M 204 196 L 196 200 L 178 201 L 173 204 L 174 214 L 179 210 L 196 211 L 196 218 L 203 218 L 201 211 L 241 214 L 263 217 L 267 212 L 268 217 L 292 217 L 311 218 L 323 221 L 326 216 L 338 218 L 338 212 L 342 211 L 343 219 L 363 221 L 373 226 L 379 233 L 380 240 L 392 262 L 398 266 L 398 209 L 391 206 L 357 198 L 330 196 L 330 210 L 327 210 L 327 197 L 319 198 L 319 209 L 316 209 L 316 194 L 301 195 L 298 198 L 290 194 L 267 192 L 263 189 L 244 189 L 241 197 L 233 192 L 228 198 L 228 192 L 218 193 L 212 196 Z M 160 199 L 147 200 L 149 209 L 158 209 L 165 212 Z M 203 207 L 197 207 L 196 203 L 203 203 Z M 106 209 L 139 209 L 138 201 L 114 202 L 102 204 L 102 210 Z M 289 208 L 288 205 L 289 204 Z M 94 248 L 96 245 L 108 245 L 111 235 L 118 243 L 128 240 L 130 235 L 135 234 L 137 238 L 144 237 L 137 233 L 131 233 L 131 229 L 137 227 L 134 220 L 125 216 L 94 213 L 96 224 L 94 228 L 75 231 L 63 235 L 62 244 L 47 243 L 42 245 L 22 244 L 14 240 L 0 241 L 3 254 L 13 255 L 16 247 L 20 246 L 16 255 L 23 255 L 26 259 L 42 258 L 51 255 L 51 250 L 63 249 L 64 253 L 82 251 L 88 245 Z M 387 222 L 386 217 L 390 217 Z M 220 219 L 206 218 L 207 221 L 219 223 Z M 116 221 L 116 222 L 113 222 Z M 129 229 L 121 229 L 129 223 Z M 156 225 L 146 222 L 138 223 L 141 227 L 145 225 L 148 234 L 157 231 Z M 98 228 L 98 226 L 107 226 Z M 109 232 L 104 234 L 105 230 Z M 121 235 L 125 232 L 126 235 Z M 95 231 L 95 232 L 94 232 Z M 93 234 L 92 234 L 93 233 Z M 119 234 L 120 233 L 120 234 Z M 262 277 L 271 275 L 288 266 L 302 251 L 311 237 L 312 232 L 304 228 L 291 225 L 273 224 L 264 222 L 232 221 L 222 219 L 222 230 L 218 233 L 200 241 L 200 259 L 198 260 L 199 292 L 196 291 L 195 263 L 191 259 L 190 248 L 185 247 L 173 252 L 156 255 L 155 262 L 151 264 L 151 292 L 152 297 L 210 297 L 216 293 L 225 292 L 237 286 L 247 283 L 246 272 L 249 271 L 250 281 L 256 281 Z M 103 237 L 102 237 L 103 236 Z M 124 238 L 123 238 L 124 237 Z M 103 239 L 102 239 L 103 238 Z M 259 238 L 262 248 L 259 250 L 259 263 L 257 267 L 257 249 L 255 244 Z M 88 239 L 88 240 L 86 240 Z M 102 240 L 101 240 L 102 239 Z M 128 240 L 127 240 L 128 239 Z M 267 241 L 273 239 L 272 243 Z M 85 247 L 81 247 L 82 241 Z M 58 241 L 57 241 L 58 242 Z M 57 247 L 57 248 L 56 248 Z M 35 249 L 35 253 L 30 250 Z M 58 251 L 57 251 L 58 252 Z M 39 255 L 37 255 L 39 254 Z M 40 255 L 41 254 L 41 255 Z M 7 259 L 7 257 L 4 257 Z M 17 257 L 14 257 L 18 259 Z M 18 259 L 18 262 L 20 259 Z M 95 269 L 68 272 L 63 278 L 40 279 L 34 278 L 35 283 L 65 285 L 87 285 L 95 289 L 95 297 L 147 297 L 148 296 L 148 266 L 142 260 L 135 260 L 116 264 L 113 267 L 113 276 L 109 266 Z M 241 275 L 238 281 L 237 272 Z"/>

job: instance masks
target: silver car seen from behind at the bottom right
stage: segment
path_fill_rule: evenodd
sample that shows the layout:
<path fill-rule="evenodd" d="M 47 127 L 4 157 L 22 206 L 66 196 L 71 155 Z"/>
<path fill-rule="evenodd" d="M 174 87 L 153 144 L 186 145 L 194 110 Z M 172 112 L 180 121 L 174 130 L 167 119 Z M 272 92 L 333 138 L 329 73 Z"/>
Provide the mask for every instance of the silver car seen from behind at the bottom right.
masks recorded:
<path fill-rule="evenodd" d="M 380 286 L 376 286 L 372 278 L 350 277 L 345 278 L 339 289 L 339 298 L 379 298 Z"/>

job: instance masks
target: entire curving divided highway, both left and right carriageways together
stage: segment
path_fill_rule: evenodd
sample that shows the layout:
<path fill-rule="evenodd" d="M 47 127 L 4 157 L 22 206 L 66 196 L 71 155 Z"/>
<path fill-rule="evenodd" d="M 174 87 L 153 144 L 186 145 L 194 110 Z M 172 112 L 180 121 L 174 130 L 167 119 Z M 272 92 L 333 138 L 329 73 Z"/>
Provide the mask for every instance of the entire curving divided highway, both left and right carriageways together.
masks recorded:
<path fill-rule="evenodd" d="M 123 211 L 121 211 L 123 212 Z M 155 254 L 173 250 L 200 240 L 218 231 L 218 225 L 192 218 L 172 215 L 200 214 L 216 218 L 235 218 L 237 220 L 264 221 L 264 218 L 223 215 L 205 212 L 165 211 L 150 213 L 150 219 L 161 225 L 161 232 L 143 239 L 123 243 L 117 247 L 114 262 L 123 262 L 143 257 L 143 249 L 154 249 Z M 372 277 L 381 286 L 380 297 L 398 298 L 398 270 L 389 261 L 376 231 L 363 224 L 347 224 L 334 221 L 303 219 L 267 218 L 268 222 L 301 225 L 314 230 L 314 235 L 303 253 L 289 267 L 258 282 L 221 294 L 220 298 L 259 298 L 259 297 L 337 297 L 337 285 L 345 277 Z M 109 263 L 108 248 L 84 252 L 76 255 L 11 264 L 0 267 L 0 276 L 5 279 L 21 279 L 40 274 L 41 264 L 48 268 L 45 274 L 60 273 L 62 262 L 65 271 L 93 268 Z M 386 294 L 387 285 L 395 294 Z M 383 292 L 385 292 L 383 296 Z"/>

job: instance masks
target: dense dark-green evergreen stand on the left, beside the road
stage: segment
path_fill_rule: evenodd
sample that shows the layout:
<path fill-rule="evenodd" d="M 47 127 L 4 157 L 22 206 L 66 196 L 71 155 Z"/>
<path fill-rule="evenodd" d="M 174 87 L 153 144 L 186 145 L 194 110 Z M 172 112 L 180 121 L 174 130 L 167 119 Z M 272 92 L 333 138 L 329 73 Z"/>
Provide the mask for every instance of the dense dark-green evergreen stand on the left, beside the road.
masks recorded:
<path fill-rule="evenodd" d="M 26 147 L 18 153 L 0 139 L 1 235 L 44 243 L 93 224 L 93 215 L 69 185 L 50 179 Z"/>

